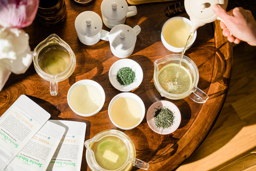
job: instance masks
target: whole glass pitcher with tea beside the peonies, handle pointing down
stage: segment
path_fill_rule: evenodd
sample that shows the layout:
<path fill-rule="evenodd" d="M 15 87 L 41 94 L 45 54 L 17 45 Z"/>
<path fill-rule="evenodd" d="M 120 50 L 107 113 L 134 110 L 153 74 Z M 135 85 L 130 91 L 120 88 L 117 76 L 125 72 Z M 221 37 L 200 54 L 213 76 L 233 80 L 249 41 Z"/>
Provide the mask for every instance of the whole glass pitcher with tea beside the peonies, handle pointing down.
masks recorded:
<path fill-rule="evenodd" d="M 57 54 L 60 58 L 56 57 L 56 53 L 60 54 Z M 49 56 L 46 57 L 46 54 Z M 69 78 L 74 72 L 76 56 L 65 41 L 52 34 L 35 47 L 33 62 L 38 75 L 50 82 L 50 93 L 55 96 L 58 94 L 58 82 Z"/>

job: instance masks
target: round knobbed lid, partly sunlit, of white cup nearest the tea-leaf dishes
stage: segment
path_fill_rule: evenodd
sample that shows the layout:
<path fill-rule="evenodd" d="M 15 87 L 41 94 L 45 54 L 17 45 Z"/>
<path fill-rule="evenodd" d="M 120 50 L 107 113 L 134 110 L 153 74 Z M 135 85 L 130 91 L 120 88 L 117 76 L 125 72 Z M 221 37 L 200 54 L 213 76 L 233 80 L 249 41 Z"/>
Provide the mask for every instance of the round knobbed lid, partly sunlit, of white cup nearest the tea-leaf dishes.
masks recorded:
<path fill-rule="evenodd" d="M 128 50 L 137 40 L 134 30 L 125 24 L 114 26 L 109 32 L 109 42 L 115 49 Z"/>

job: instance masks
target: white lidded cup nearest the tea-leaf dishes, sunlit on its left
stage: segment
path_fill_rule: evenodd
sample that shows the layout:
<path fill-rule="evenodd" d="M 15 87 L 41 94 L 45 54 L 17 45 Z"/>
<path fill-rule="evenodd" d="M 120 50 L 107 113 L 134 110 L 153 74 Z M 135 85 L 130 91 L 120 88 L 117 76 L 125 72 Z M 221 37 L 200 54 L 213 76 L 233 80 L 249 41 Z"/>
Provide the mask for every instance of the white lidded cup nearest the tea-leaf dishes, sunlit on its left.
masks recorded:
<path fill-rule="evenodd" d="M 113 55 L 118 58 L 126 58 L 134 51 L 137 35 L 140 33 L 140 26 L 131 28 L 125 24 L 114 26 L 108 35 L 110 49 Z"/>

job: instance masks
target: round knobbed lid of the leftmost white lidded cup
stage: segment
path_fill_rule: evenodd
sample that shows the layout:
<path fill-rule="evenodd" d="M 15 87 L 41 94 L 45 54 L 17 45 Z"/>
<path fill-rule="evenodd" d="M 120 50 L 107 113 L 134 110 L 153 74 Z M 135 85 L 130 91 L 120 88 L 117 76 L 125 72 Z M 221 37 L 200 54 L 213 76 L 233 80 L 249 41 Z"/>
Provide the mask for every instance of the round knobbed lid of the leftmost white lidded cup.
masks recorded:
<path fill-rule="evenodd" d="M 102 20 L 96 12 L 85 11 L 76 17 L 75 27 L 82 36 L 94 36 L 102 30 Z"/>

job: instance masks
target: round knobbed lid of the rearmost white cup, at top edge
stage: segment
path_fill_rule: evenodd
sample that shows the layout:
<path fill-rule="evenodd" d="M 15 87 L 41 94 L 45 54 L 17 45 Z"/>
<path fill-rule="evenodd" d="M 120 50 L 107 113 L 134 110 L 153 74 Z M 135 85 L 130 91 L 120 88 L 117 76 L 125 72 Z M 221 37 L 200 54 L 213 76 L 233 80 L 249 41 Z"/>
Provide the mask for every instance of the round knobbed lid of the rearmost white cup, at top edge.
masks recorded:
<path fill-rule="evenodd" d="M 108 20 L 121 20 L 128 12 L 128 4 L 125 0 L 103 0 L 100 10 Z"/>

